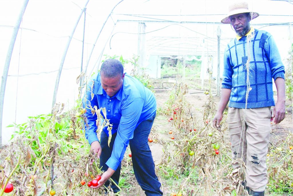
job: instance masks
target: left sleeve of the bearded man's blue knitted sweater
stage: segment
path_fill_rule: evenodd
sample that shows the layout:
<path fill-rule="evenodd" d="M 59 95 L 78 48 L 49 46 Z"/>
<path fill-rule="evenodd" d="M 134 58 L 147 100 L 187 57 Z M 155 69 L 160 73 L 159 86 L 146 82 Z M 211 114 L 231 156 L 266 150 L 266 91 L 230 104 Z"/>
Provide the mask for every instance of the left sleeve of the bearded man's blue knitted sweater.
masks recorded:
<path fill-rule="evenodd" d="M 223 72 L 223 81 L 222 81 L 222 88 L 224 89 L 232 89 L 232 75 L 233 75 L 233 68 L 230 63 L 230 56 L 228 55 L 228 47 L 225 49 L 224 53 L 224 72 Z"/>

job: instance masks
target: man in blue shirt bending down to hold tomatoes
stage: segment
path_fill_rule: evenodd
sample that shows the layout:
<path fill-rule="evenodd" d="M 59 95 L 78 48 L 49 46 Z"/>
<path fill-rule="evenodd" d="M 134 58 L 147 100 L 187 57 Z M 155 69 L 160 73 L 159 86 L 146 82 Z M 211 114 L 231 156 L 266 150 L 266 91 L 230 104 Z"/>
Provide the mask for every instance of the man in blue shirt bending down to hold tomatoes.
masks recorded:
<path fill-rule="evenodd" d="M 108 146 L 108 130 L 105 127 L 100 141 L 97 137 L 96 115 L 86 112 L 86 138 L 91 149 L 100 158 L 100 167 L 105 171 L 98 186 L 109 186 L 110 177 L 119 182 L 121 161 L 128 145 L 132 153 L 132 164 L 137 182 L 147 196 L 161 196 L 161 183 L 155 174 L 155 164 L 148 145 L 148 136 L 156 116 L 154 94 L 134 77 L 123 73 L 119 60 L 105 60 L 100 72 L 89 83 L 84 97 L 84 107 L 105 107 L 110 119 L 112 138 Z M 93 86 L 93 89 L 91 89 Z M 91 98 L 93 93 L 93 98 Z M 112 185 L 114 192 L 117 186 Z"/>

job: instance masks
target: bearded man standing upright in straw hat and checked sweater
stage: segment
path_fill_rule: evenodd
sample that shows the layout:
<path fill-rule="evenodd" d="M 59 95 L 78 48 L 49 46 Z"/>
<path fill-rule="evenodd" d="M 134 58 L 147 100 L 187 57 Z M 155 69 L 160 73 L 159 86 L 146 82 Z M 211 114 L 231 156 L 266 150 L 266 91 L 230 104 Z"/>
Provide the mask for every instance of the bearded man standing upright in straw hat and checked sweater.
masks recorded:
<path fill-rule="evenodd" d="M 229 6 L 228 16 L 221 21 L 231 23 L 236 37 L 225 49 L 222 93 L 213 126 L 221 129 L 223 111 L 229 101 L 232 157 L 246 163 L 246 181 L 242 184 L 249 195 L 263 196 L 268 182 L 270 119 L 277 124 L 285 118 L 285 68 L 272 35 L 250 27 L 249 22 L 258 16 L 248 10 L 246 2 L 236 2 Z M 277 87 L 276 105 L 272 78 Z M 275 106 L 272 116 L 271 106 Z M 233 164 L 234 169 L 238 167 L 238 163 Z"/>

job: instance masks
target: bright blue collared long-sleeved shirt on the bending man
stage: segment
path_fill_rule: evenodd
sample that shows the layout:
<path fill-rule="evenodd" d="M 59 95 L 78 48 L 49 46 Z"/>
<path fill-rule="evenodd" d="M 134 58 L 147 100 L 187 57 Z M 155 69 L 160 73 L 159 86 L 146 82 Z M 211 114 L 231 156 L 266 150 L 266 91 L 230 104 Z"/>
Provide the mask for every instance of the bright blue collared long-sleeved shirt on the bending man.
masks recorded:
<path fill-rule="evenodd" d="M 92 92 L 93 99 L 91 99 Z M 156 98 L 140 81 L 126 73 L 121 89 L 115 96 L 109 97 L 101 86 L 99 72 L 92 77 L 87 87 L 83 106 L 85 107 L 86 104 L 88 107 L 89 103 L 91 107 L 96 105 L 98 109 L 106 108 L 107 119 L 113 125 L 112 134 L 117 132 L 111 157 L 106 162 L 111 169 L 116 170 L 123 159 L 129 140 L 133 138 L 134 130 L 142 121 L 156 114 Z M 85 126 L 86 139 L 91 144 L 99 141 L 96 133 L 97 116 L 92 115 L 89 109 L 86 110 L 85 115 L 88 123 L 88 127 Z M 103 131 L 108 135 L 106 127 Z"/>

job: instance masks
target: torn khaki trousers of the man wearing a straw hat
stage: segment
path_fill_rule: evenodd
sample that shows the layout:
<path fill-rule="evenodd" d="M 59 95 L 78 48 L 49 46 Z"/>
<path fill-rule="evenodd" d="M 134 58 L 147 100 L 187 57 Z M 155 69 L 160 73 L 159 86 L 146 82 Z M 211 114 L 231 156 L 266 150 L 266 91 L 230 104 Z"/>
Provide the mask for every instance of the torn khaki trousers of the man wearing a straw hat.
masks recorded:
<path fill-rule="evenodd" d="M 245 109 L 229 107 L 228 112 L 232 158 L 240 159 L 243 150 L 243 161 L 246 164 L 246 185 L 254 191 L 263 191 L 268 182 L 266 155 L 271 129 L 270 107 L 246 109 L 243 132 Z M 234 169 L 239 167 L 238 163 L 232 165 Z"/>

